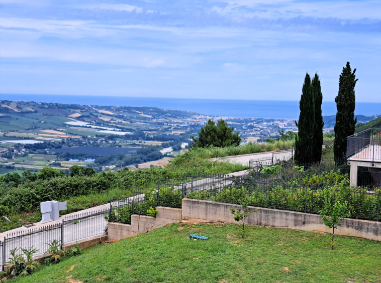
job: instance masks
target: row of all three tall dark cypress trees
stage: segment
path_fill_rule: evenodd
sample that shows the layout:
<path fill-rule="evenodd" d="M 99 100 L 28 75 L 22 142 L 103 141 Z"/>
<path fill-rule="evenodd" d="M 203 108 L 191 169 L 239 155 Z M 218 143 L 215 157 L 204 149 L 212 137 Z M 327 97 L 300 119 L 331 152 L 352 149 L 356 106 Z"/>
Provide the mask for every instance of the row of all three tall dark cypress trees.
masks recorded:
<path fill-rule="evenodd" d="M 346 157 L 347 136 L 354 134 L 357 118 L 354 118 L 355 91 L 358 79 L 356 69 L 351 70 L 349 62 L 343 67 L 339 77 L 339 92 L 335 98 L 337 114 L 334 127 L 334 160 L 344 160 Z M 319 163 L 323 147 L 323 95 L 319 76 L 316 73 L 313 79 L 307 73 L 302 87 L 299 102 L 300 116 L 298 135 L 295 140 L 295 159 L 301 163 Z"/>

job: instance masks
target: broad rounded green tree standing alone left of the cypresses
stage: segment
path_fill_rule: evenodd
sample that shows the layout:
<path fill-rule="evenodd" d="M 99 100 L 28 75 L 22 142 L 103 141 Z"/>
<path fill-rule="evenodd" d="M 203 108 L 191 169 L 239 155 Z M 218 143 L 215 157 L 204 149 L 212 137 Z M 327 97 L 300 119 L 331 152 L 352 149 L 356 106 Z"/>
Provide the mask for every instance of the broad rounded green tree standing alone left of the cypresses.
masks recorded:
<path fill-rule="evenodd" d="M 218 120 L 217 125 L 209 119 L 207 124 L 199 131 L 199 137 L 190 136 L 193 140 L 191 148 L 206 148 L 206 147 L 228 147 L 239 146 L 241 137 L 239 132 L 234 132 L 233 127 L 229 127 L 224 119 Z"/>

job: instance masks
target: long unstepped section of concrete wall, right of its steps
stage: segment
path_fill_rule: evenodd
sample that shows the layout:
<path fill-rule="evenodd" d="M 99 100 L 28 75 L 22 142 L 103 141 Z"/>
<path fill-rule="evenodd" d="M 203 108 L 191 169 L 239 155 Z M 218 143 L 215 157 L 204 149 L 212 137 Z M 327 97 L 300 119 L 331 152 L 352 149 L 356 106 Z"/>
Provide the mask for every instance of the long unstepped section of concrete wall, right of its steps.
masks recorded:
<path fill-rule="evenodd" d="M 226 223 L 237 223 L 233 219 L 230 208 L 239 208 L 239 205 L 212 201 L 183 199 L 182 219 L 204 219 Z M 245 219 L 250 225 L 263 225 L 278 228 L 289 228 L 304 231 L 321 231 L 332 233 L 324 225 L 320 215 L 293 212 L 287 210 L 248 207 L 249 211 L 256 210 Z M 360 237 L 372 240 L 381 240 L 381 222 L 345 218 L 335 229 L 335 235 Z"/>

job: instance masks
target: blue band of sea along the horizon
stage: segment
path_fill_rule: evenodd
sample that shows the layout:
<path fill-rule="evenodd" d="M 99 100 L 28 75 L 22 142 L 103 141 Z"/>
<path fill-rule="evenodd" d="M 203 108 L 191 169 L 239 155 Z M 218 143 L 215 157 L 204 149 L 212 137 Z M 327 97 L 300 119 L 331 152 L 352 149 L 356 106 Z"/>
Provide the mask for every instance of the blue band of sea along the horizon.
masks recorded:
<path fill-rule="evenodd" d="M 162 109 L 192 111 L 210 116 L 237 118 L 298 119 L 300 112 L 299 101 L 291 100 L 193 99 L 49 94 L 0 94 L 0 99 L 103 106 L 157 107 Z M 335 115 L 336 111 L 335 102 L 323 101 L 323 116 Z M 355 114 L 367 116 L 381 114 L 381 103 L 356 102 Z"/>

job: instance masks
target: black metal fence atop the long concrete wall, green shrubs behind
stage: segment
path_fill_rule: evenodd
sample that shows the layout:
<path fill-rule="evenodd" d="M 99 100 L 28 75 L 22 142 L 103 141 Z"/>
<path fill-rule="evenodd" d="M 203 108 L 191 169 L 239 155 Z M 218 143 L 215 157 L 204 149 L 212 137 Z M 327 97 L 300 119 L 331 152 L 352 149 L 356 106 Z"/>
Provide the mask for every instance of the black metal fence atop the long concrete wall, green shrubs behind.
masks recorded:
<path fill-rule="evenodd" d="M 162 184 L 166 189 L 188 199 L 209 200 L 223 203 L 241 204 L 282 210 L 317 214 L 324 207 L 324 187 L 289 185 L 262 175 L 261 178 L 226 176 L 186 176 L 187 183 Z M 338 186 L 330 186 L 332 195 L 339 193 Z M 352 218 L 379 221 L 381 191 L 350 188 L 345 192 Z M 162 206 L 166 206 L 163 204 Z"/>

